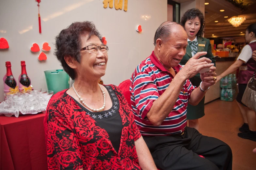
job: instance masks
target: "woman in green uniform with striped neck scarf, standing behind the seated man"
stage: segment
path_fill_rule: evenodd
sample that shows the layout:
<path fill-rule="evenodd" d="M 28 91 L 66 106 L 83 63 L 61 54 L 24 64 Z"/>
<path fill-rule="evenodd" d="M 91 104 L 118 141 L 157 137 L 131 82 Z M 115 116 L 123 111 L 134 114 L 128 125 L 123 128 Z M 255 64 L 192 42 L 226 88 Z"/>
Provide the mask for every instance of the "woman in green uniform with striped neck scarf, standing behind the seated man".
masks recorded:
<path fill-rule="evenodd" d="M 188 36 L 186 54 L 180 62 L 181 65 L 185 65 L 186 62 L 197 52 L 205 51 L 207 54 L 202 55 L 201 57 L 207 57 L 211 59 L 215 66 L 215 59 L 212 54 L 210 40 L 202 37 L 204 33 L 204 23 L 205 21 L 203 13 L 197 8 L 187 10 L 181 18 L 180 24 L 185 28 Z M 190 78 L 189 80 L 193 85 L 198 87 L 201 83 L 200 73 Z M 189 127 L 195 128 L 199 131 L 198 119 L 202 116 L 204 116 L 204 98 L 197 106 L 188 104 L 187 119 Z"/>

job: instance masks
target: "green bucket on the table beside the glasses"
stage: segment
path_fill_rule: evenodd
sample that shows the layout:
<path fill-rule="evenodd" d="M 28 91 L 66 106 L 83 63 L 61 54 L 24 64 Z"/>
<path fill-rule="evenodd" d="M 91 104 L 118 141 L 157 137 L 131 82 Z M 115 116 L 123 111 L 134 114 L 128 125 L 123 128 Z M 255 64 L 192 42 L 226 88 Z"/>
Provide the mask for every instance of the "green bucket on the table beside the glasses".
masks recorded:
<path fill-rule="evenodd" d="M 64 70 L 47 70 L 44 71 L 48 90 L 54 94 L 69 88 L 69 75 Z"/>

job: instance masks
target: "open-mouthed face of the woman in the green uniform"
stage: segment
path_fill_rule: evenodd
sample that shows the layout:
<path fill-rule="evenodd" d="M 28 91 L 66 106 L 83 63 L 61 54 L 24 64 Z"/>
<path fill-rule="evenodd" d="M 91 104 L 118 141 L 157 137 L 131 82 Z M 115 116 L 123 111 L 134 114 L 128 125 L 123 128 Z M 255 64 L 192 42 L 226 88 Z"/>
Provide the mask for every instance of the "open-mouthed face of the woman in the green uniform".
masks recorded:
<path fill-rule="evenodd" d="M 200 30 L 200 19 L 196 17 L 192 20 L 187 20 L 185 23 L 185 30 L 188 36 L 188 39 L 195 39 L 198 31 Z"/>

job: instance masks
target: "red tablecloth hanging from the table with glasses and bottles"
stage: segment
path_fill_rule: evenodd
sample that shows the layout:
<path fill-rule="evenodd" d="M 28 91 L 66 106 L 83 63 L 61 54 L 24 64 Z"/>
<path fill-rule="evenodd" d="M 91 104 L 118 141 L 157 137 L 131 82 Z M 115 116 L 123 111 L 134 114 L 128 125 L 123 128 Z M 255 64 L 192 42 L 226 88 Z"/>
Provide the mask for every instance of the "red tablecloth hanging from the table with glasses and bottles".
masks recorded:
<path fill-rule="evenodd" d="M 0 170 L 47 170 L 44 115 L 0 116 Z"/>

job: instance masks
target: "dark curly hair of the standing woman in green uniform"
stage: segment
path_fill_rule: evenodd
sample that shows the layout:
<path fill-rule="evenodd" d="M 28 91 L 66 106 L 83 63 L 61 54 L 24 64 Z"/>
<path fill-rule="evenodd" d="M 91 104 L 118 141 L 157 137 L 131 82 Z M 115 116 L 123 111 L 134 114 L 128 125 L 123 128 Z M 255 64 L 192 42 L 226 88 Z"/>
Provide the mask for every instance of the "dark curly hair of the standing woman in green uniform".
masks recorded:
<path fill-rule="evenodd" d="M 188 9 L 184 15 L 182 16 L 181 18 L 181 26 L 184 27 L 185 29 L 185 23 L 187 20 L 193 20 L 194 18 L 198 17 L 199 20 L 200 20 L 200 29 L 197 33 L 196 36 L 200 36 L 202 37 L 203 34 L 204 34 L 204 25 L 205 25 L 205 20 L 204 20 L 204 16 L 203 16 L 203 13 L 197 9 L 197 8 L 192 8 L 192 9 Z"/>

